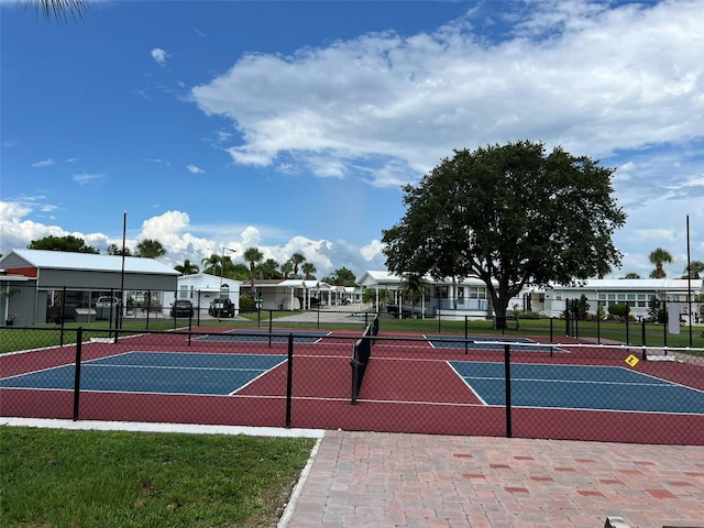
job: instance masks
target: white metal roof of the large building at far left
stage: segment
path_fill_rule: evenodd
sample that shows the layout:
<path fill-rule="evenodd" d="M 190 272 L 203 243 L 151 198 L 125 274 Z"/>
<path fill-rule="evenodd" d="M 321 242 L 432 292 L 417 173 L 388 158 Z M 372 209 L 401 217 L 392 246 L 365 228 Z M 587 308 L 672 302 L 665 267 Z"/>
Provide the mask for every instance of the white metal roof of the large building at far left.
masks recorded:
<path fill-rule="evenodd" d="M 10 250 L 0 258 L 2 262 L 11 255 L 16 255 L 29 266 L 51 270 L 84 270 L 92 272 L 121 272 L 122 256 L 98 255 L 94 253 L 74 253 L 68 251 L 48 250 Z M 180 275 L 173 267 L 162 264 L 154 258 L 141 258 L 136 256 L 124 257 L 124 271 L 127 273 Z"/>

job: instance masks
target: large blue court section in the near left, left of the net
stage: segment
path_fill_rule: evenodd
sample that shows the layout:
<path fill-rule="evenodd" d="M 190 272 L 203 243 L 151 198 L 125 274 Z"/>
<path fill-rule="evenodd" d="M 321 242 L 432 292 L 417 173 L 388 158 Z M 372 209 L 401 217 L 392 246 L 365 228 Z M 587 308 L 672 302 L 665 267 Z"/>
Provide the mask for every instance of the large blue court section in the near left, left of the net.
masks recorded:
<path fill-rule="evenodd" d="M 80 389 L 224 396 L 285 361 L 285 355 L 127 352 L 84 362 Z M 74 377 L 72 364 L 0 380 L 0 387 L 73 391 Z"/>

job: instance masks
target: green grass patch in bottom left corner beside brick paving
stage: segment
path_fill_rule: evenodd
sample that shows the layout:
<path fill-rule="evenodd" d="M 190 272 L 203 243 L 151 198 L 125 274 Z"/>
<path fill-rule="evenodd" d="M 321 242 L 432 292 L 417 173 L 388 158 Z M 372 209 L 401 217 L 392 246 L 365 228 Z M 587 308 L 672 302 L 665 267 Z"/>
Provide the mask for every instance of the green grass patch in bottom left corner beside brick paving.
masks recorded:
<path fill-rule="evenodd" d="M 3 527 L 276 526 L 312 439 L 0 427 Z"/>

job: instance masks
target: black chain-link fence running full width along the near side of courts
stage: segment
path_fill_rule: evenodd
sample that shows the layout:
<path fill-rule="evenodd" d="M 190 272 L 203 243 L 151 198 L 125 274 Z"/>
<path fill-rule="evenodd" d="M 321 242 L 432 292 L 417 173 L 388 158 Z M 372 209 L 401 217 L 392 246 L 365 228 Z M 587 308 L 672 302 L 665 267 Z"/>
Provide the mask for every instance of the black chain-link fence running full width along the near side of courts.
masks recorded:
<path fill-rule="evenodd" d="M 704 446 L 704 348 L 385 322 L 6 328 L 0 416 Z"/>

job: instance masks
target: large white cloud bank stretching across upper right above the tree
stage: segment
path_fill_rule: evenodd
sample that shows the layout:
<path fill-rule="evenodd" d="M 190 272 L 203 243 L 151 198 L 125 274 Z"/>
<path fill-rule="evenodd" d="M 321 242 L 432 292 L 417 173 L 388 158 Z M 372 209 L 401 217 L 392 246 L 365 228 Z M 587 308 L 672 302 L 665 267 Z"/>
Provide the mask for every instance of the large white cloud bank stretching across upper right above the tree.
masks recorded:
<path fill-rule="evenodd" d="M 415 170 L 413 180 L 480 142 L 531 138 L 605 156 L 701 136 L 704 3 L 530 7 L 503 42 L 477 40 L 469 19 L 428 34 L 250 54 L 193 96 L 241 131 L 243 143 L 229 148 L 237 163 L 296 152 L 321 177 L 382 156 Z M 396 185 L 387 167 L 371 180 Z"/>

